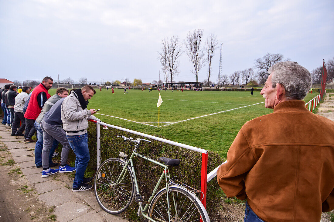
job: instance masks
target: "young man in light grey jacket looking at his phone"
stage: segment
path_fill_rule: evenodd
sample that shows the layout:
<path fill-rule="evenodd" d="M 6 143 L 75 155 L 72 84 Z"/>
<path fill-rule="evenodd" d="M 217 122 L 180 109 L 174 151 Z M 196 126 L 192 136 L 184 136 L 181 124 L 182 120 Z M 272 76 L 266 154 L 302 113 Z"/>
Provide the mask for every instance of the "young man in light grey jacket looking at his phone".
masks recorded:
<path fill-rule="evenodd" d="M 93 97 L 96 91 L 92 86 L 86 85 L 81 89 L 72 91 L 61 104 L 61 121 L 66 137 L 72 148 L 75 158 L 75 179 L 73 180 L 72 191 L 85 191 L 92 189 L 92 185 L 83 181 L 83 174 L 86 171 L 90 159 L 88 149 L 88 120 L 100 119 L 93 116 L 95 109 L 87 109 L 88 100 Z"/>

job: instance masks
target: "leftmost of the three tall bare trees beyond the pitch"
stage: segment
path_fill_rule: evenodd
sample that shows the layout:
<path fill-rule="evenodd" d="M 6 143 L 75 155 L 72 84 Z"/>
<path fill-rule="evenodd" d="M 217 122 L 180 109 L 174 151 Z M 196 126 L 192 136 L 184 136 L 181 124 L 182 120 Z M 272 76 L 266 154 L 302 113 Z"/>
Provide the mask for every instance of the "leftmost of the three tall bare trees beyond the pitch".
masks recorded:
<path fill-rule="evenodd" d="M 170 74 L 170 81 L 173 82 L 173 77 L 179 74 L 179 60 L 182 55 L 182 44 L 179 43 L 179 37 L 173 36 L 170 39 L 162 40 L 161 51 L 158 52 L 160 59 L 164 59 L 166 62 L 167 71 Z"/>

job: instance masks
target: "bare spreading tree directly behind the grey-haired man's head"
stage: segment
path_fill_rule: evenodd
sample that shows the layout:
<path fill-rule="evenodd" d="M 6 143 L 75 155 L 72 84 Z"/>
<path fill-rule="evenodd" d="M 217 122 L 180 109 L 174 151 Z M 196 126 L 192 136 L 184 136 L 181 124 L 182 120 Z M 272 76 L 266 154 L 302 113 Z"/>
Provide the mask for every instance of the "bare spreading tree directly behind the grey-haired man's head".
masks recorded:
<path fill-rule="evenodd" d="M 275 65 L 278 62 L 281 62 L 283 60 L 283 55 L 282 54 L 270 54 L 267 53 L 265 56 L 262 58 L 258 58 L 255 60 L 255 68 L 258 69 L 258 76 L 259 76 L 259 81 L 260 83 L 264 83 L 268 76 L 268 70 L 271 66 Z"/>

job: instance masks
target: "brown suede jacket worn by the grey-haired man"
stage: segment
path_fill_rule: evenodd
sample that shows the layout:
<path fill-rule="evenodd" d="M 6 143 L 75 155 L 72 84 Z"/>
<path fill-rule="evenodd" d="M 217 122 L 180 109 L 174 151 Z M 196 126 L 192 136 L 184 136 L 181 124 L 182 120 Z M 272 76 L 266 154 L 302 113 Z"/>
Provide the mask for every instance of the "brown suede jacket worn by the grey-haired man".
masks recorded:
<path fill-rule="evenodd" d="M 334 209 L 334 122 L 281 102 L 242 126 L 217 180 L 265 221 L 320 221 Z"/>

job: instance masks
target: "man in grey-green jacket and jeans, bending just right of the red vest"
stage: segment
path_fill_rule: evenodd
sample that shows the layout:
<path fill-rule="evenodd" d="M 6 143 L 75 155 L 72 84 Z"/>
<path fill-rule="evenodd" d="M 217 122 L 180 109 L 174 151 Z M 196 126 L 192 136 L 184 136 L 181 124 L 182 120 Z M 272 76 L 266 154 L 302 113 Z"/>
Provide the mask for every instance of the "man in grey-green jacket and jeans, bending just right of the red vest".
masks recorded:
<path fill-rule="evenodd" d="M 50 108 L 61 98 L 64 98 L 68 96 L 68 90 L 65 89 L 64 87 L 60 87 L 56 90 L 56 94 L 54 94 L 53 96 L 51 96 L 50 98 L 48 98 L 45 103 L 44 106 L 40 112 L 40 114 L 38 115 L 38 117 L 35 120 L 34 126 L 35 129 L 37 131 L 37 142 L 35 145 L 35 164 L 36 167 L 42 167 L 42 149 L 43 149 L 43 130 L 41 129 L 40 123 L 44 117 L 44 114 L 50 110 Z M 49 157 L 49 166 L 50 167 L 54 167 L 57 166 L 58 163 L 53 163 L 52 162 L 52 155 L 54 153 L 54 150 L 56 149 L 56 147 L 58 146 L 58 141 L 54 140 L 53 141 L 53 147 L 50 151 L 50 157 Z"/>

